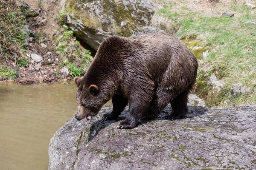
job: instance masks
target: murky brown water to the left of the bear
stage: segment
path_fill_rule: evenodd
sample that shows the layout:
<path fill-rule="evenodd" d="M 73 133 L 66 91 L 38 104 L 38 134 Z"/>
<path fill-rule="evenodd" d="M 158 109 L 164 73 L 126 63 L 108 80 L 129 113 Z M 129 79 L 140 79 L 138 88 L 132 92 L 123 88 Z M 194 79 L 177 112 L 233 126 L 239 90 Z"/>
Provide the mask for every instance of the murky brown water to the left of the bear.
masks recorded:
<path fill-rule="evenodd" d="M 49 141 L 74 116 L 76 89 L 0 83 L 0 170 L 48 169 Z"/>

